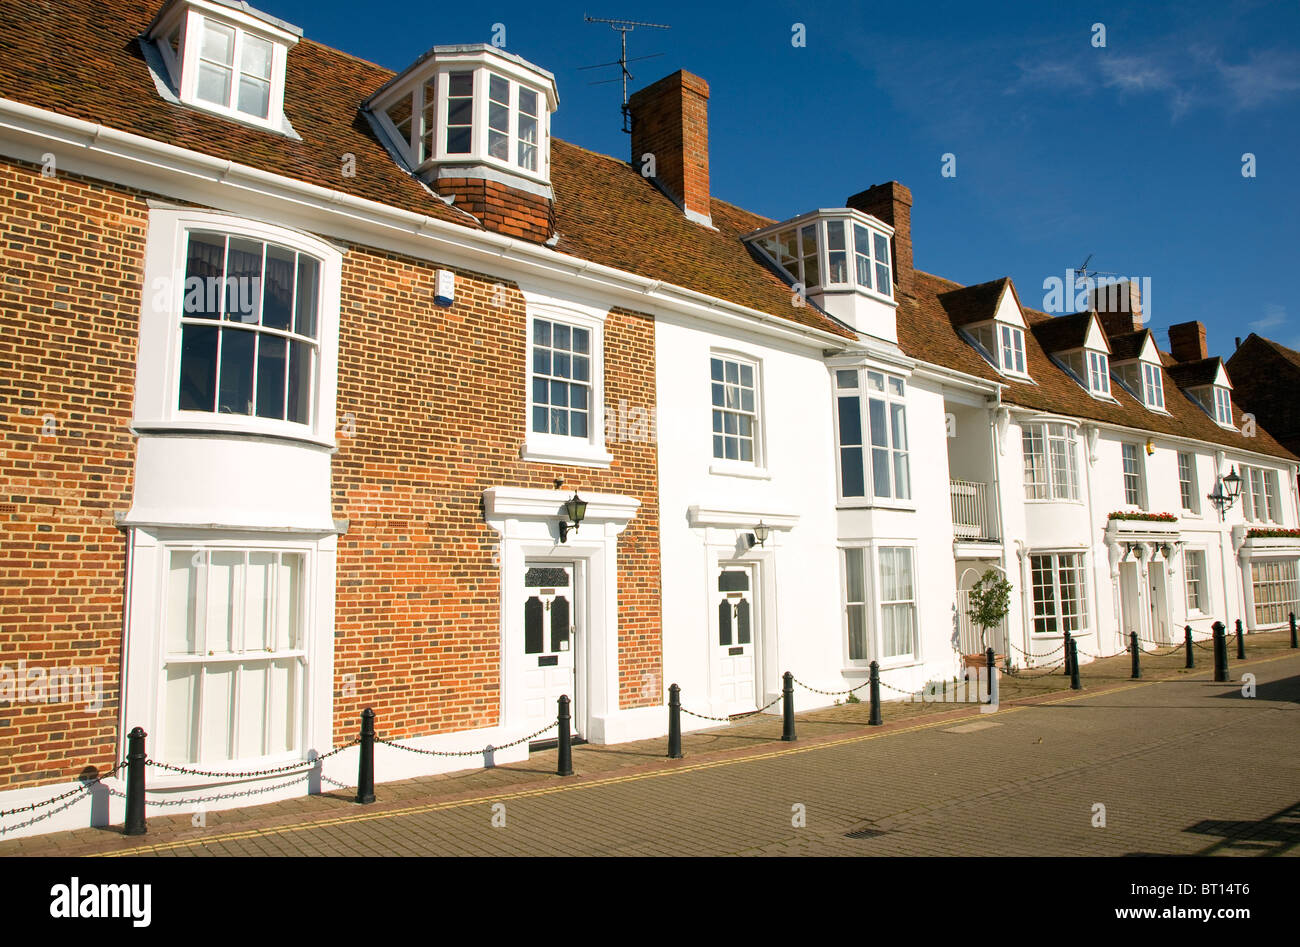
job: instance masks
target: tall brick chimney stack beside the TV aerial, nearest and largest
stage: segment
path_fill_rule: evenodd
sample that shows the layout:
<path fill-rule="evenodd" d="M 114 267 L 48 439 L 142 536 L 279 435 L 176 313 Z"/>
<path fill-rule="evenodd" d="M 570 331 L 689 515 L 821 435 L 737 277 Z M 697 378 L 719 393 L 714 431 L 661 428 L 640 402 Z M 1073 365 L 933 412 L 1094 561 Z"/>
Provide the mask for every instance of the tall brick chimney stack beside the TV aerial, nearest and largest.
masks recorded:
<path fill-rule="evenodd" d="M 628 99 L 632 112 L 632 167 L 645 173 L 654 156 L 654 178 L 686 217 L 712 226 L 708 204 L 708 83 L 679 70 Z"/>

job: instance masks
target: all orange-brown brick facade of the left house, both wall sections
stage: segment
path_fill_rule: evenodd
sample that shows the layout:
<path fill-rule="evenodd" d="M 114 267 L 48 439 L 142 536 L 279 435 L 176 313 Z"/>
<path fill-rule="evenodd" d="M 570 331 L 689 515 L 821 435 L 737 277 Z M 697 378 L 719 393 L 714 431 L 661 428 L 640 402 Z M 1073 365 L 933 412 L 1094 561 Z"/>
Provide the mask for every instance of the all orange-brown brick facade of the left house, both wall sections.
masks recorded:
<path fill-rule="evenodd" d="M 130 432 L 148 208 L 117 186 L 0 164 L 0 665 L 101 667 L 103 706 L 0 702 L 0 790 L 112 766 L 118 741 Z M 653 438 L 607 442 L 610 470 L 524 463 L 521 294 L 351 247 L 343 263 L 334 515 L 335 736 L 373 706 L 387 735 L 490 726 L 500 696 L 493 485 L 625 493 L 619 537 L 623 708 L 662 700 Z M 606 402 L 654 407 L 654 320 L 606 323 Z M 53 418 L 53 436 L 43 434 Z"/>

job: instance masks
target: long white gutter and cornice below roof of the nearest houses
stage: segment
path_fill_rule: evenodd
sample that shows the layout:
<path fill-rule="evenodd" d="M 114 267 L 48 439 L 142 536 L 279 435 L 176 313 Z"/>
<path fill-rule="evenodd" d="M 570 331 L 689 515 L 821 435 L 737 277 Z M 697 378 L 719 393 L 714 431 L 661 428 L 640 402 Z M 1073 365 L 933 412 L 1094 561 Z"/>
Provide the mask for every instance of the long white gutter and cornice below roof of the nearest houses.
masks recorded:
<path fill-rule="evenodd" d="M 169 178 L 168 183 L 192 178 L 243 190 L 263 206 L 268 199 L 273 199 L 296 204 L 308 211 L 325 211 L 335 221 L 342 221 L 342 224 L 335 225 L 344 228 L 346 239 L 365 246 L 370 245 L 365 241 L 356 241 L 356 229 L 378 230 L 402 241 L 416 238 L 420 241 L 422 251 L 416 255 L 430 261 L 438 261 L 434 258 L 450 254 L 452 258 L 468 258 L 477 265 L 506 261 L 512 264 L 516 273 L 552 280 L 573 281 L 576 278 L 588 291 L 612 295 L 618 300 L 614 304 L 625 304 L 628 308 L 644 311 L 645 300 L 651 299 L 655 304 L 682 315 L 703 317 L 737 328 L 754 329 L 757 325 L 763 334 L 816 349 L 841 350 L 853 343 L 852 340 L 823 329 L 800 325 L 682 286 L 663 284 L 659 280 L 628 273 L 511 237 L 472 230 L 428 215 L 403 211 L 376 200 L 296 181 L 226 159 L 212 157 L 101 124 L 26 105 L 12 99 L 0 98 L 0 133 L 8 133 L 4 135 L 6 143 L 12 143 L 17 138 L 21 144 L 21 137 L 32 137 L 47 147 L 61 144 L 91 152 L 110 161 L 130 163 L 138 168 L 152 170 L 155 174 L 162 173 Z M 12 148 L 6 148 L 6 153 L 21 157 Z M 101 177 L 101 173 L 91 172 L 91 174 Z M 114 181 L 114 178 L 108 180 Z M 118 181 L 118 183 L 122 182 Z M 192 199 L 192 195 L 183 193 L 174 194 L 174 196 Z M 348 229 L 352 232 L 348 233 Z"/>

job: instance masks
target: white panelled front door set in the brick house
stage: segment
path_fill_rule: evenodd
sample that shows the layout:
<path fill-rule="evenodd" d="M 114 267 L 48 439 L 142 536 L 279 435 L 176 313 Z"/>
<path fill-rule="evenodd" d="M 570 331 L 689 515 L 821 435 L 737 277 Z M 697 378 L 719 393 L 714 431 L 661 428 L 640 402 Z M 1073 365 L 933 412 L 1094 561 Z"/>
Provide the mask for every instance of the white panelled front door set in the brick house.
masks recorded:
<path fill-rule="evenodd" d="M 556 701 L 567 695 L 572 731 L 581 731 L 577 713 L 577 609 L 572 562 L 528 562 L 524 571 L 524 713 L 537 727 L 555 719 Z M 550 736 L 550 734 L 547 734 Z M 543 738 L 545 739 L 545 738 Z"/>

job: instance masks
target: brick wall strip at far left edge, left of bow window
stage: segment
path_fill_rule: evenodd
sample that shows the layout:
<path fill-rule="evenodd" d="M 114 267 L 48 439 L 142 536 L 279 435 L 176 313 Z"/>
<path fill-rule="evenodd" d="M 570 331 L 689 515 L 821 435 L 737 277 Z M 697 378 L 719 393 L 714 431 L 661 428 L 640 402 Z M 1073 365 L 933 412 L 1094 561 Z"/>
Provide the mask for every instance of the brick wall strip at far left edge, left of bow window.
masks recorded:
<path fill-rule="evenodd" d="M 94 713 L 0 701 L 0 788 L 113 762 L 146 212 L 0 163 L 0 665 L 103 674 Z"/>

